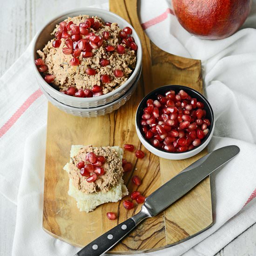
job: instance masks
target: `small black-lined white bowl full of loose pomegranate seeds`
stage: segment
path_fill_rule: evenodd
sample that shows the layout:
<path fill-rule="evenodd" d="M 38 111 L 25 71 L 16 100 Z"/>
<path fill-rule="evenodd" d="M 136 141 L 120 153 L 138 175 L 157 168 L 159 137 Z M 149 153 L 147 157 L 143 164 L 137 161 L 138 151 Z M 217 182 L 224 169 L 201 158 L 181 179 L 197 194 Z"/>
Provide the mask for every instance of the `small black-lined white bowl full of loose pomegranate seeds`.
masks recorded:
<path fill-rule="evenodd" d="M 198 154 L 214 131 L 214 114 L 196 90 L 166 85 L 143 98 L 136 112 L 136 132 L 153 154 L 180 160 Z"/>

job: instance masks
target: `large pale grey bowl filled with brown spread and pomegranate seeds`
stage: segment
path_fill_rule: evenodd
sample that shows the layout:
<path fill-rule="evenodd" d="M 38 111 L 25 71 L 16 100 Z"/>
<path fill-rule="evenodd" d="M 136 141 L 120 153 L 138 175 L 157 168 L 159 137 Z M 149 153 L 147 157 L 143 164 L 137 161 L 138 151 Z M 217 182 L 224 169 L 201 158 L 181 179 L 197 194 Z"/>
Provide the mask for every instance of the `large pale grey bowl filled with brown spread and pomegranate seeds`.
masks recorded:
<path fill-rule="evenodd" d="M 40 88 L 74 108 L 97 108 L 131 88 L 141 69 L 141 42 L 120 16 L 81 8 L 50 21 L 33 51 Z"/>

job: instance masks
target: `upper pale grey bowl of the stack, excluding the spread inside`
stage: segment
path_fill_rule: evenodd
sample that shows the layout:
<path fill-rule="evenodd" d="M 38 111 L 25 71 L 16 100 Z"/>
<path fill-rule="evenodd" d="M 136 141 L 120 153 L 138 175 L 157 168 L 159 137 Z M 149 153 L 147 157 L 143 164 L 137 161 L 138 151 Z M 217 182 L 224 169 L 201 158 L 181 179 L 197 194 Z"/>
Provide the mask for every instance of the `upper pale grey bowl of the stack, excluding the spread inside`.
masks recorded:
<path fill-rule="evenodd" d="M 36 51 L 39 49 L 42 49 L 45 46 L 45 44 L 50 39 L 53 38 L 53 36 L 51 36 L 50 33 L 54 30 L 55 25 L 60 23 L 62 20 L 65 20 L 68 16 L 74 17 L 80 14 L 88 14 L 90 16 L 97 15 L 98 17 L 102 18 L 105 21 L 117 22 L 119 27 L 121 28 L 127 27 L 127 26 L 131 27 L 133 30 L 132 36 L 134 37 L 135 43 L 138 46 L 135 70 L 133 71 L 131 76 L 128 78 L 128 80 L 119 88 L 116 88 L 114 91 L 108 94 L 104 94 L 104 95 L 92 97 L 92 98 L 79 98 L 79 97 L 73 97 L 73 96 L 60 93 L 58 90 L 54 89 L 43 79 L 36 65 L 34 64 L 34 60 L 37 59 Z M 99 107 L 120 98 L 121 95 L 125 94 L 135 82 L 135 79 L 140 71 L 141 59 L 142 59 L 141 41 L 137 33 L 135 32 L 135 29 L 126 20 L 122 19 L 120 16 L 118 16 L 115 13 L 111 13 L 109 11 L 99 9 L 99 8 L 89 8 L 89 7 L 68 11 L 51 20 L 36 35 L 33 52 L 32 52 L 32 61 L 33 61 L 34 71 L 35 71 L 36 79 L 40 84 L 40 87 L 43 88 L 48 94 L 50 94 L 57 101 L 60 101 L 65 105 L 76 107 L 76 108 Z"/>

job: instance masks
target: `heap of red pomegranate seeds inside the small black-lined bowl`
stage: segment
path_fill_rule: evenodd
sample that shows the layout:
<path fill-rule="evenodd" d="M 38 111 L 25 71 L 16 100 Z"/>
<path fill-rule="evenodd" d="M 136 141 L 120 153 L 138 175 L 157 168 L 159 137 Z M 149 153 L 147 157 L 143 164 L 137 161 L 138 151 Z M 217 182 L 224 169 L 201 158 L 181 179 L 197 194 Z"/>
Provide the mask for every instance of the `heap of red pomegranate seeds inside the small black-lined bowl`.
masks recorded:
<path fill-rule="evenodd" d="M 141 115 L 145 138 L 167 152 L 184 152 L 201 144 L 209 133 L 210 121 L 201 101 L 184 90 L 170 90 L 157 99 L 148 99 Z"/>

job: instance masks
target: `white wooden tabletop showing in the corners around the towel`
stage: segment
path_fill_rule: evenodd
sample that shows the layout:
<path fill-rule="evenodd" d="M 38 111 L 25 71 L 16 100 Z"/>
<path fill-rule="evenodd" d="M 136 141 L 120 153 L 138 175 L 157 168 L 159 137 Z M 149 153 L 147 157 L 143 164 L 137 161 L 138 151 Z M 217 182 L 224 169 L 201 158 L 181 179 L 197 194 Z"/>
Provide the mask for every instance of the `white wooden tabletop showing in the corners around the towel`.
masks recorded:
<path fill-rule="evenodd" d="M 101 2 L 107 1 L 101 0 Z M 0 75 L 19 58 L 40 27 L 56 13 L 97 3 L 99 3 L 97 0 L 1 0 Z M 0 194 L 0 256 L 11 255 L 15 216 L 13 204 Z M 216 254 L 216 256 L 255 255 L 256 224 Z"/>

